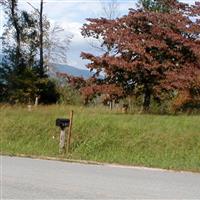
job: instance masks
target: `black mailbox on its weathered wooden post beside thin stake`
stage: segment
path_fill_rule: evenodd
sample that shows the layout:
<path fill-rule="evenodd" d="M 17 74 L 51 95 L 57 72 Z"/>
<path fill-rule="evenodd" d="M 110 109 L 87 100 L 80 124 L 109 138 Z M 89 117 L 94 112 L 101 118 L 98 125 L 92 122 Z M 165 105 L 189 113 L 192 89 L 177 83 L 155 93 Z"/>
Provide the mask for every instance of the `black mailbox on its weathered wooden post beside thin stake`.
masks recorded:
<path fill-rule="evenodd" d="M 65 148 L 65 138 L 66 138 L 66 128 L 69 127 L 69 119 L 56 119 L 56 126 L 60 127 L 60 143 L 59 143 L 59 152 L 62 153 L 66 151 Z"/>

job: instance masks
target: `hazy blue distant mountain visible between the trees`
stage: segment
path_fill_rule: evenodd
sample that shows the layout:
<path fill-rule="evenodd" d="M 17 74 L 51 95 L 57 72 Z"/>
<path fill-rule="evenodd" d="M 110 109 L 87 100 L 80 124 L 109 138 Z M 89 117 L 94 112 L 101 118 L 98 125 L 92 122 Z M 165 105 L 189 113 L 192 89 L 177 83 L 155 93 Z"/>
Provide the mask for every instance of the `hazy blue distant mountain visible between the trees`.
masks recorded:
<path fill-rule="evenodd" d="M 53 63 L 51 65 L 52 65 L 52 70 L 50 69 L 50 71 L 53 71 L 54 73 L 56 72 L 66 73 L 72 76 L 82 76 L 83 78 L 89 78 L 94 74 L 89 70 L 79 69 L 66 64 Z"/>

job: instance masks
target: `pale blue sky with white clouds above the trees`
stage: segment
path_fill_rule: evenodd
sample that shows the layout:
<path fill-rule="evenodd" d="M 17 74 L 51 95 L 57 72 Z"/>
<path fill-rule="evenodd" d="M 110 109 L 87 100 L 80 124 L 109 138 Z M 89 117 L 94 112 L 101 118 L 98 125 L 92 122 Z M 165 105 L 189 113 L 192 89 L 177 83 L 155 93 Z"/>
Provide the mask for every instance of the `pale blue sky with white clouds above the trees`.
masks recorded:
<path fill-rule="evenodd" d="M 39 8 L 39 0 L 18 0 L 19 7 L 25 10 L 32 10 L 27 3 Z M 110 0 L 101 0 L 103 4 Z M 181 0 L 182 2 L 193 4 L 195 0 Z M 59 24 L 66 32 L 73 35 L 69 50 L 67 52 L 67 64 L 86 69 L 87 61 L 80 58 L 80 53 L 90 52 L 98 54 L 98 50 L 91 47 L 90 41 L 81 35 L 81 27 L 86 22 L 86 18 L 95 18 L 104 15 L 102 3 L 99 0 L 44 0 L 44 14 L 47 15 L 51 24 Z M 129 8 L 134 8 L 137 0 L 118 0 L 118 16 L 128 13 Z M 5 15 L 0 8 L 0 34 L 3 32 Z M 0 45 L 0 48 L 1 45 Z"/>

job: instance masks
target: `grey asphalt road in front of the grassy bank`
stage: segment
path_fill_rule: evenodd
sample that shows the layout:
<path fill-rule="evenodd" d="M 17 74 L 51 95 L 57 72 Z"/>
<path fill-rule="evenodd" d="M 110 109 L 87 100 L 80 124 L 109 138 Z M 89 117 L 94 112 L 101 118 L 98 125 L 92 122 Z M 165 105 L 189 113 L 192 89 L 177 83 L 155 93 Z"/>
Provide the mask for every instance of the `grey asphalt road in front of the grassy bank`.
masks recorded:
<path fill-rule="evenodd" d="M 1 156 L 1 199 L 200 199 L 200 174 Z"/>

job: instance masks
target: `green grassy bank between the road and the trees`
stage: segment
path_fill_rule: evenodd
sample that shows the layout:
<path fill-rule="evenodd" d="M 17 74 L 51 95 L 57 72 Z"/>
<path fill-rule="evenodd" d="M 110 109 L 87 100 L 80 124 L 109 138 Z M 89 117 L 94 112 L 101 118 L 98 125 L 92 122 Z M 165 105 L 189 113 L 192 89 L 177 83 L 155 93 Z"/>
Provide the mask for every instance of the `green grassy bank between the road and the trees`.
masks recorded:
<path fill-rule="evenodd" d="M 1 106 L 1 153 L 63 157 L 55 119 L 68 117 L 72 109 L 70 158 L 200 172 L 200 116 L 125 115 L 70 106 L 29 112 Z"/>

